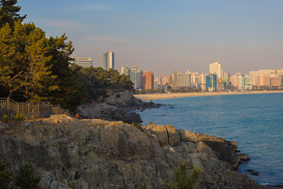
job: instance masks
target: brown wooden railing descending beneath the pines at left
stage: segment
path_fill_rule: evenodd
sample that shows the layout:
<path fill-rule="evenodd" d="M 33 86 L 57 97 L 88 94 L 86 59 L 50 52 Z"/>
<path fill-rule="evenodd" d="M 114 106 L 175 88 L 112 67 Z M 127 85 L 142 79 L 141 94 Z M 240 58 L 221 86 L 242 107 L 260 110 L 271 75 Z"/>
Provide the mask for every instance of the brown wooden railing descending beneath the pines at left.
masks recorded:
<path fill-rule="evenodd" d="M 74 117 L 69 110 L 64 110 L 60 105 L 52 105 L 51 102 L 15 102 L 10 98 L 0 98 L 0 110 L 9 110 L 25 115 L 49 112 Z"/>

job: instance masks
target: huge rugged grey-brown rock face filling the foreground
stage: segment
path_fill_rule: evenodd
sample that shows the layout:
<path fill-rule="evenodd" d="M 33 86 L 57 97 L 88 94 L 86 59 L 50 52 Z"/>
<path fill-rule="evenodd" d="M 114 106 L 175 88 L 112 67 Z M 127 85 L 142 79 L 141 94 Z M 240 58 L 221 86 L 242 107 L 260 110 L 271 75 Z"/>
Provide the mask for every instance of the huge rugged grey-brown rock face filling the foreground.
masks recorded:
<path fill-rule="evenodd" d="M 81 189 L 138 188 L 141 181 L 147 181 L 148 188 L 165 189 L 180 159 L 189 160 L 189 170 L 193 165 L 203 168 L 197 188 L 259 188 L 246 174 L 218 160 L 203 136 L 196 135 L 198 142 L 187 141 L 186 134 L 180 140 L 182 131 L 170 125 L 149 125 L 141 132 L 121 121 L 53 115 L 18 128 L 21 139 L 0 133 L 0 160 L 6 157 L 17 176 L 31 159 L 43 189 L 67 189 L 67 180 Z"/>

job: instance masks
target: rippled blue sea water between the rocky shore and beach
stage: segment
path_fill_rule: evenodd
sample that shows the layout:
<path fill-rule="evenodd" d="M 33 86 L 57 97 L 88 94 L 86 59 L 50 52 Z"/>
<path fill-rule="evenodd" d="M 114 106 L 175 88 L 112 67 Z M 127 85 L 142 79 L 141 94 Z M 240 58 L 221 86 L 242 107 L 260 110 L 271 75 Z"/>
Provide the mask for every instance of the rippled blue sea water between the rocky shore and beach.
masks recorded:
<path fill-rule="evenodd" d="M 238 150 L 251 158 L 239 165 L 239 173 L 248 174 L 259 184 L 283 184 L 283 93 L 195 96 L 153 102 L 166 106 L 137 111 L 144 121 L 142 125 L 153 121 L 236 141 Z M 260 175 L 251 175 L 248 169 Z"/>

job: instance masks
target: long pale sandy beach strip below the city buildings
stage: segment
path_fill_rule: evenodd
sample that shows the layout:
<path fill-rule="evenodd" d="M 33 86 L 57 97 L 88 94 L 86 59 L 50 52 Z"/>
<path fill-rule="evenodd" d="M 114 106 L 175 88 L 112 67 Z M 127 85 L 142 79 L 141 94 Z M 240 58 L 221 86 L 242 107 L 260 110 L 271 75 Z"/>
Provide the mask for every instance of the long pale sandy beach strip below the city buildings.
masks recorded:
<path fill-rule="evenodd" d="M 165 98 L 180 98 L 188 96 L 208 96 L 208 95 L 236 95 L 236 94 L 255 94 L 255 93 L 282 93 L 283 91 L 251 91 L 251 92 L 239 92 L 231 91 L 225 92 L 205 92 L 205 93 L 162 93 L 162 94 L 141 94 L 134 95 L 136 98 L 141 100 L 152 100 L 152 99 L 165 99 Z"/>

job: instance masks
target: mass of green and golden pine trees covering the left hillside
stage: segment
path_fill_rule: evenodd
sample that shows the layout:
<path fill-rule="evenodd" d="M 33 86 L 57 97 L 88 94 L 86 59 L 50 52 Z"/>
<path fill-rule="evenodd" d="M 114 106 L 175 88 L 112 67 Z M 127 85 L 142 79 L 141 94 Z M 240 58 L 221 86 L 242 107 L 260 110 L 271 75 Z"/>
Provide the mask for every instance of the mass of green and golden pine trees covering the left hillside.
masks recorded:
<path fill-rule="evenodd" d="M 102 95 L 97 88 L 133 91 L 129 76 L 102 67 L 72 65 L 72 42 L 60 37 L 46 38 L 34 23 L 17 12 L 17 0 L 0 0 L 0 97 L 18 102 L 60 104 L 74 111 L 85 100 Z M 106 95 L 106 93 L 104 94 Z"/>

